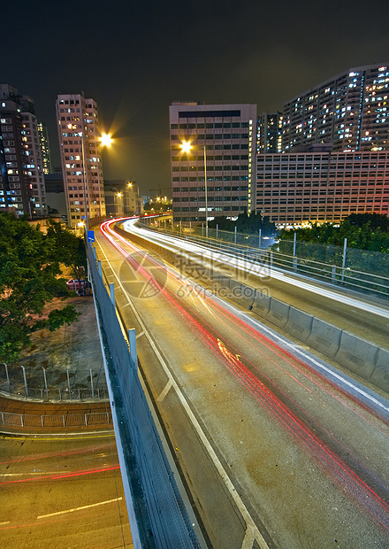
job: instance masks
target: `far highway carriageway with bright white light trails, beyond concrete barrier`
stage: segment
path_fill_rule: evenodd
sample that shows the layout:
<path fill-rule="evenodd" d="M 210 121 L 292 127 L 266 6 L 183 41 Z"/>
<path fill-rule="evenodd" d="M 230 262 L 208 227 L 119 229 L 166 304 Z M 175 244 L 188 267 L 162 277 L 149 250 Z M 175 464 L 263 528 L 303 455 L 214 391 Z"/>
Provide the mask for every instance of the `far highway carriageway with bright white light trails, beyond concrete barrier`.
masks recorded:
<path fill-rule="evenodd" d="M 127 220 L 123 227 L 134 235 L 147 237 L 149 242 L 163 245 L 166 250 L 179 253 L 182 267 L 187 259 L 195 259 L 204 267 L 211 267 L 265 295 L 293 305 L 309 314 L 346 329 L 356 336 L 388 347 L 389 303 L 363 296 L 330 284 L 309 280 L 292 272 L 263 266 L 248 259 L 237 259 L 224 252 L 210 250 L 184 238 L 164 235 L 137 227 L 136 220 Z"/>

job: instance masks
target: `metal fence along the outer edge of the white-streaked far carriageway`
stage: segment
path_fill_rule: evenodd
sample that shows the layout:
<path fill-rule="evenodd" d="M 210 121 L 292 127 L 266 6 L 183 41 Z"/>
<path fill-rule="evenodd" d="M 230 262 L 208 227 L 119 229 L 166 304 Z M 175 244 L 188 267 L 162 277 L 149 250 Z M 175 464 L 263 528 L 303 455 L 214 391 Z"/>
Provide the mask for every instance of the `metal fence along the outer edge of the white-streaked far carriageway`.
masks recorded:
<path fill-rule="evenodd" d="M 144 220 L 142 220 L 144 221 Z M 348 290 L 389 298 L 389 253 L 343 246 L 278 240 L 209 228 L 183 227 L 149 219 L 141 226 L 198 242 L 255 263 L 308 276 Z"/>

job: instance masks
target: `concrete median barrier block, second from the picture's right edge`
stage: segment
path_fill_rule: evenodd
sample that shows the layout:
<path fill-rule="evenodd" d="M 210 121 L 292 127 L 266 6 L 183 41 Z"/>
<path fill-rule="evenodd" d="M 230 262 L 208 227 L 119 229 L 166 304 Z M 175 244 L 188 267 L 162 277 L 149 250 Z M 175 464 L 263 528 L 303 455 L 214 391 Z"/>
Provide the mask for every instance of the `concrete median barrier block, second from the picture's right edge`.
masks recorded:
<path fill-rule="evenodd" d="M 363 379 L 370 379 L 376 366 L 378 346 L 343 331 L 335 360 Z"/>

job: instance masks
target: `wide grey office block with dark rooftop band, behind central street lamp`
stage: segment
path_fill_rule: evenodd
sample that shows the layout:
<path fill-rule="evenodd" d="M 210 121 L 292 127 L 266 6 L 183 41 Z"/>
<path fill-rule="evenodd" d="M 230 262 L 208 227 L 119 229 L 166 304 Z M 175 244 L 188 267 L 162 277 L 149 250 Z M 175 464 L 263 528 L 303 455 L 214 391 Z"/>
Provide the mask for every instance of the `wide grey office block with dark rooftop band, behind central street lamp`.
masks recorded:
<path fill-rule="evenodd" d="M 174 220 L 254 211 L 256 105 L 175 102 L 169 119 Z"/>

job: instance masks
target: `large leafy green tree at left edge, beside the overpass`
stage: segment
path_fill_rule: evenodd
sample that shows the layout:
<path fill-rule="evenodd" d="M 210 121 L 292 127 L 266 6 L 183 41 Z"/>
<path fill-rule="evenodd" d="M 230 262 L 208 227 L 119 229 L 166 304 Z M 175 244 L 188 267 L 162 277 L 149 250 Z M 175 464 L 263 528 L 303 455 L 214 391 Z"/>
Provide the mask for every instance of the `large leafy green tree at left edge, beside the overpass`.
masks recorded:
<path fill-rule="evenodd" d="M 48 318 L 43 316 L 46 303 L 69 295 L 65 279 L 59 277 L 62 253 L 56 239 L 44 235 L 39 226 L 12 213 L 0 213 L 1 361 L 18 360 L 34 330 L 53 331 L 78 317 L 72 305 L 51 311 Z"/>

